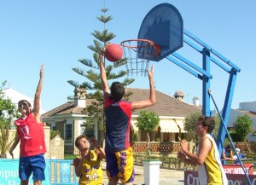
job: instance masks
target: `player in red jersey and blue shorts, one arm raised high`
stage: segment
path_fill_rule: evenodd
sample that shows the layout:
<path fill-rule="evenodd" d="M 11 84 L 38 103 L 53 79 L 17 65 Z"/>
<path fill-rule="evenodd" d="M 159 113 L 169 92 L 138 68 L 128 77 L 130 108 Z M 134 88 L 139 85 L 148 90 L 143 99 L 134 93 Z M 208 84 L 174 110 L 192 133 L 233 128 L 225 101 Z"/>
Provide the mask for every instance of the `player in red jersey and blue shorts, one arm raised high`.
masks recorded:
<path fill-rule="evenodd" d="M 40 119 L 40 95 L 44 77 L 44 65 L 40 69 L 38 88 L 34 97 L 34 107 L 30 102 L 21 100 L 18 103 L 20 119 L 15 120 L 17 132 L 15 142 L 9 150 L 14 159 L 13 151 L 20 142 L 19 177 L 20 185 L 28 185 L 29 177 L 33 174 L 34 185 L 41 185 L 45 180 L 44 168 L 46 153 L 44 141 L 44 124 Z"/>

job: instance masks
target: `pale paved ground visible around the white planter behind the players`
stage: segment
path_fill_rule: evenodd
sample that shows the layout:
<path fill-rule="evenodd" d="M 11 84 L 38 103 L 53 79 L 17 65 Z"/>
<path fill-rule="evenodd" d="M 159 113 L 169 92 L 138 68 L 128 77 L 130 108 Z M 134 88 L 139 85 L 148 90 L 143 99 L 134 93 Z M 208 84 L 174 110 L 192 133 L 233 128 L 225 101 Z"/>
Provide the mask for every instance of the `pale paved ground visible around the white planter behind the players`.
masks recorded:
<path fill-rule="evenodd" d="M 105 170 L 105 162 L 102 162 L 102 169 Z M 143 166 L 135 165 L 135 181 L 134 185 L 144 184 L 144 171 Z M 104 184 L 108 185 L 108 178 L 106 173 L 103 171 Z M 159 185 L 181 185 L 184 184 L 184 171 L 160 169 L 160 182 Z M 119 183 L 122 184 L 122 183 Z"/>

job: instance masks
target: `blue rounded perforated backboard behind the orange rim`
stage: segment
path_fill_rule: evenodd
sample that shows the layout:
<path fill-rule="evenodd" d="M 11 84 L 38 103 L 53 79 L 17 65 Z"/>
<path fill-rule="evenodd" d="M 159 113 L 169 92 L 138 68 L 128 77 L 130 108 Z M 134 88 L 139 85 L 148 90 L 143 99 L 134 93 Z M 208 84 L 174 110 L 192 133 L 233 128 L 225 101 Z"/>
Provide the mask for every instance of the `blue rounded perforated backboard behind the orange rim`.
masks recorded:
<path fill-rule="evenodd" d="M 160 61 L 183 47 L 183 19 L 178 10 L 169 3 L 161 3 L 151 9 L 143 19 L 138 39 L 148 39 L 160 46 L 160 55 L 150 61 Z M 139 43 L 138 43 L 139 44 Z M 139 47 L 138 48 L 142 48 Z M 138 52 L 138 54 L 143 52 Z M 143 55 L 138 55 L 143 58 Z"/>

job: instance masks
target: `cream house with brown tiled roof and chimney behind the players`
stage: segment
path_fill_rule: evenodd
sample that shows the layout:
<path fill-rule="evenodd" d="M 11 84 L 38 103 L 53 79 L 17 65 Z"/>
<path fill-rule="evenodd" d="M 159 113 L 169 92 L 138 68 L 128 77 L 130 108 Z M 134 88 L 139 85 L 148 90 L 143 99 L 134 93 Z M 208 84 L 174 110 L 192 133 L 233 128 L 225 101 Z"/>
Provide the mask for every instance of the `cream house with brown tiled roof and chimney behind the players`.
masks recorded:
<path fill-rule="evenodd" d="M 149 90 L 128 88 L 126 91 L 132 93 L 129 96 L 129 101 L 141 101 L 149 97 Z M 155 136 L 160 136 L 162 142 L 177 142 L 178 136 L 185 133 L 184 119 L 190 113 L 201 112 L 201 107 L 189 105 L 157 90 L 155 95 L 156 104 L 153 107 L 144 108 L 160 117 L 160 125 L 154 129 L 150 137 L 154 140 Z M 104 139 L 104 125 L 101 119 L 96 118 L 90 126 L 84 124 L 86 117 L 84 107 L 90 106 L 92 101 L 86 99 L 86 90 L 76 88 L 74 101 L 64 103 L 42 115 L 44 123 L 49 125 L 52 130 L 60 130 L 61 138 L 65 140 L 65 147 L 69 147 L 71 151 L 74 148 L 75 138 L 80 134 L 96 136 L 100 142 Z M 135 124 L 139 112 L 140 110 L 132 112 L 130 139 L 132 140 L 134 134 L 138 133 L 139 140 L 145 141 L 146 133 L 140 132 Z"/>

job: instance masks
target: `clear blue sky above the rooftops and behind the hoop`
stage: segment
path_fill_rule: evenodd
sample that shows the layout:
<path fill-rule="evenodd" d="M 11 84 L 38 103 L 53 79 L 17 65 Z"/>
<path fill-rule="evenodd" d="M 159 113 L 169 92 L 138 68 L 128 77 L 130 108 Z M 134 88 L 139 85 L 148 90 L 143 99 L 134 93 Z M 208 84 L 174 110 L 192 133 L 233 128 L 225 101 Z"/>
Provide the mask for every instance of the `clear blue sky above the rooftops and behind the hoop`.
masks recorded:
<path fill-rule="evenodd" d="M 73 86 L 84 78 L 73 72 L 73 67 L 84 67 L 79 59 L 92 59 L 88 45 L 93 44 L 91 32 L 102 30 L 96 16 L 100 9 L 109 9 L 113 20 L 108 31 L 116 34 L 113 43 L 137 38 L 144 16 L 160 3 L 171 3 L 183 17 L 183 27 L 216 49 L 241 68 L 237 75 L 232 108 L 239 102 L 255 101 L 253 85 L 254 43 L 256 42 L 256 2 L 254 0 L 137 0 L 137 1 L 0 1 L 0 82 L 7 80 L 10 87 L 33 97 L 38 84 L 39 69 L 44 63 L 42 108 L 49 111 L 67 102 Z M 181 55 L 181 52 L 177 51 Z M 184 53 L 188 59 L 195 59 Z M 196 59 L 197 60 L 197 59 Z M 201 63 L 201 61 L 196 61 Z M 185 101 L 194 96 L 201 99 L 201 81 L 166 59 L 155 63 L 156 90 L 174 95 L 183 90 Z M 221 109 L 227 88 L 228 74 L 212 66 L 212 95 Z M 134 88 L 148 89 L 148 78 L 137 77 Z M 211 107 L 213 109 L 213 107 Z"/>

